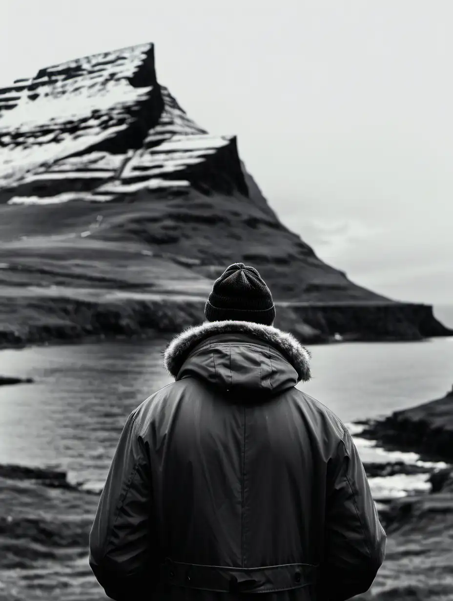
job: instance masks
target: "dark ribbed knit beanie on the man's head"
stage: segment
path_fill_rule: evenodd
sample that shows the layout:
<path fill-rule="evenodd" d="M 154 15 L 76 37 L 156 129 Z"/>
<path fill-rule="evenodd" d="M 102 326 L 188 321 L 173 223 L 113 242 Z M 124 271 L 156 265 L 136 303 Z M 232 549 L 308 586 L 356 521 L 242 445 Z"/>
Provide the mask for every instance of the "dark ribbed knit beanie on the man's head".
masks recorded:
<path fill-rule="evenodd" d="M 276 317 L 272 294 L 253 267 L 233 263 L 216 279 L 205 305 L 208 322 L 227 319 L 270 326 Z"/>

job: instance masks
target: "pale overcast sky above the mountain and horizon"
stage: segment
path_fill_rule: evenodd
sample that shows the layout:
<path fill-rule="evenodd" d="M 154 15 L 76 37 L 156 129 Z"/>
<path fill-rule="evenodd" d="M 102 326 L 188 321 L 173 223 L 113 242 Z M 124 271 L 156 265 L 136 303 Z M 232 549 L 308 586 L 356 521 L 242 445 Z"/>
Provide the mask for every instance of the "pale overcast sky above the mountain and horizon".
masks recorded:
<path fill-rule="evenodd" d="M 158 80 L 357 284 L 453 305 L 453 2 L 1 0 L 0 84 L 152 41 Z"/>

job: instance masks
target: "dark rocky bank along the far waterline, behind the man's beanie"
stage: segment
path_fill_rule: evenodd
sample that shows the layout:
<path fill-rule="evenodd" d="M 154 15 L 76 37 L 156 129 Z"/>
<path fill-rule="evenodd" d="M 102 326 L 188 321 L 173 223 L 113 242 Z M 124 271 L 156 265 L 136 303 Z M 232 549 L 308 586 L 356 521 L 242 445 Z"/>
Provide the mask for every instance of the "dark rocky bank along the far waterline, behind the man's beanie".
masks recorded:
<path fill-rule="evenodd" d="M 152 339 L 158 332 L 178 332 L 203 320 L 204 299 L 144 294 L 124 302 L 111 296 L 90 299 L 80 292 L 68 296 L 34 297 L 34 306 L 19 305 L 22 319 L 0 329 L 0 348 L 44 344 L 48 341 L 81 341 L 87 337 Z M 15 305 L 16 306 L 16 305 Z M 307 343 L 325 343 L 327 334 L 303 322 L 291 308 L 278 307 L 276 327 Z"/>

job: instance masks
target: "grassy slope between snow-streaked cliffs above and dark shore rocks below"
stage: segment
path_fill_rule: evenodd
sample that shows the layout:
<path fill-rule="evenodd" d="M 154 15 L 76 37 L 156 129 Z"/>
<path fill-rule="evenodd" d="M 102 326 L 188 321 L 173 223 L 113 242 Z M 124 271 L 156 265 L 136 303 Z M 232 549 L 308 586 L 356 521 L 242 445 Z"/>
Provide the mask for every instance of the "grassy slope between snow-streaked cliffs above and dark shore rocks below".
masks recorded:
<path fill-rule="evenodd" d="M 170 290 L 180 278 L 198 279 L 205 281 L 204 290 L 226 264 L 242 259 L 262 271 L 277 300 L 298 300 L 302 294 L 307 301 L 384 299 L 322 263 L 274 218 L 265 203 L 241 195 L 208 197 L 195 191 L 179 198 L 147 192 L 131 200 L 0 206 L 0 261 L 36 265 L 46 259 L 60 264 L 61 275 L 74 278 L 76 269 L 68 263 L 70 258 L 86 261 L 81 271 L 91 281 L 112 271 L 118 282 L 149 287 L 169 281 Z M 102 221 L 96 227 L 98 216 Z M 79 237 L 90 229 L 90 236 Z M 33 239 L 20 240 L 19 236 Z M 142 250 L 161 255 L 161 260 L 141 256 Z M 185 258 L 192 261 L 183 266 Z M 127 267 L 128 273 L 120 274 L 117 265 Z M 8 280 L 17 281 L 17 276 L 3 270 L 0 283 L 8 284 Z"/>

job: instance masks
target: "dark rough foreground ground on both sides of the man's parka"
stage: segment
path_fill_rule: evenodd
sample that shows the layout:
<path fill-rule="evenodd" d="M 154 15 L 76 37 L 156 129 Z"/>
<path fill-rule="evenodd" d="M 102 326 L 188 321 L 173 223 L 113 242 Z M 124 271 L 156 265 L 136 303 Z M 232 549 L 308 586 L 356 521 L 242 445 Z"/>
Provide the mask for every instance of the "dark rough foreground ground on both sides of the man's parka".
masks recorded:
<path fill-rule="evenodd" d="M 430 404 L 427 406 L 429 412 Z M 371 591 L 357 599 L 408 601 L 436 599 L 436 594 L 439 599 L 449 599 L 447 595 L 453 590 L 452 469 L 401 461 L 364 466 L 369 478 L 429 473 L 431 492 L 377 502 L 387 532 L 386 561 Z M 0 502 L 4 508 L 0 517 L 0 582 L 4 583 L 0 599 L 22 599 L 13 595 L 14 570 L 22 575 L 42 570 L 38 584 L 30 582 L 40 591 L 61 588 L 61 581 L 66 581 L 70 594 L 63 594 L 61 599 L 105 598 L 86 561 L 88 532 L 99 492 L 85 488 L 83 482 L 68 481 L 67 472 L 60 469 L 0 466 Z"/>

